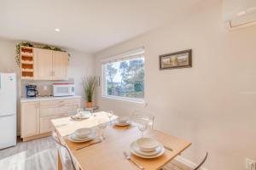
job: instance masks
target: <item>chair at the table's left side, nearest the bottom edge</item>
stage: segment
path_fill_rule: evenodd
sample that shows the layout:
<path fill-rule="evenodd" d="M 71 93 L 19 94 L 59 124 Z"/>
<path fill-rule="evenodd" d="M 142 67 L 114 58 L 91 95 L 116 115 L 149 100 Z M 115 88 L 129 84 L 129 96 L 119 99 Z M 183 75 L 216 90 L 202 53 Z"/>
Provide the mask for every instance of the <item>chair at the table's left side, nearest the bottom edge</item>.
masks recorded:
<path fill-rule="evenodd" d="M 55 143 L 58 144 L 60 147 L 58 148 L 58 154 L 61 156 L 61 164 L 63 170 L 77 170 L 73 158 L 71 156 L 70 151 L 67 149 L 67 146 L 65 144 L 61 144 L 60 139 L 58 138 L 57 134 L 53 131 L 52 137 L 55 139 Z"/>

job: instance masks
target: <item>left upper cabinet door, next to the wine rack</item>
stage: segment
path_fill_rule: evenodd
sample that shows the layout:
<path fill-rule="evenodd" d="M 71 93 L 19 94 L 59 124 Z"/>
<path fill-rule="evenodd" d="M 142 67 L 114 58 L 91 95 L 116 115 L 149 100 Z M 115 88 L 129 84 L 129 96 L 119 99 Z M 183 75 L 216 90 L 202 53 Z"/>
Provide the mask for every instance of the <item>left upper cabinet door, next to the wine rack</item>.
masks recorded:
<path fill-rule="evenodd" d="M 34 79 L 51 80 L 53 51 L 48 49 L 34 48 Z"/>

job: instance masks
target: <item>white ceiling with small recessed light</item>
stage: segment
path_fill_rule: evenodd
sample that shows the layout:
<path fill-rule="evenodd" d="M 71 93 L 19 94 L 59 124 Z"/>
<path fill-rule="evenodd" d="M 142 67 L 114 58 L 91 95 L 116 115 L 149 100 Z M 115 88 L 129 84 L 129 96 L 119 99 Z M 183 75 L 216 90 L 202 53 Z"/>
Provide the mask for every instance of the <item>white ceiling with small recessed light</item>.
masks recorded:
<path fill-rule="evenodd" d="M 94 54 L 176 20 L 198 1 L 0 0 L 0 37 Z"/>

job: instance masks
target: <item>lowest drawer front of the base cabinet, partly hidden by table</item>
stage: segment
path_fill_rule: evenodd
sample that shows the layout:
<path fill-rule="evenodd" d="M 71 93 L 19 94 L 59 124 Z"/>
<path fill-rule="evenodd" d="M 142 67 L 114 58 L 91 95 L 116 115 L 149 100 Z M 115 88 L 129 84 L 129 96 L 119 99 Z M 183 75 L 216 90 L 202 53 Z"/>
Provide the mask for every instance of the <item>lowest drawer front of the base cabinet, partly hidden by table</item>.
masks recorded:
<path fill-rule="evenodd" d="M 61 117 L 67 117 L 68 114 L 63 114 L 59 116 L 44 116 L 40 118 L 40 133 L 49 133 L 54 130 L 54 127 L 51 123 L 52 119 L 57 119 Z"/>

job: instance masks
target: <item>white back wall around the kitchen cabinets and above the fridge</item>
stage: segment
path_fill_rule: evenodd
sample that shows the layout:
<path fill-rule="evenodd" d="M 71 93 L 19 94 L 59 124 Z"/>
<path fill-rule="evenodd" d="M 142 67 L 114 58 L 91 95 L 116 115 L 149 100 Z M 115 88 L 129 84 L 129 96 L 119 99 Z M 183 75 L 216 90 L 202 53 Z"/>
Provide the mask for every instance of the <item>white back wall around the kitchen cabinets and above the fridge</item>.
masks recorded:
<path fill-rule="evenodd" d="M 20 84 L 20 68 L 15 64 L 15 45 L 17 41 L 11 41 L 7 39 L 0 38 L 0 72 L 16 72 L 18 77 L 18 133 L 20 132 L 20 88 L 24 88 Z M 82 86 L 82 78 L 88 75 L 94 75 L 95 71 L 95 58 L 91 54 L 84 54 L 83 52 L 79 52 L 73 49 L 67 49 L 67 51 L 71 54 L 71 58 L 69 60 L 69 69 L 68 69 L 68 77 L 72 79 L 76 86 L 76 94 L 84 95 L 83 86 Z M 32 82 L 32 81 L 29 81 Z M 39 84 L 49 84 L 52 81 L 39 81 Z M 23 84 L 23 83 L 22 83 Z M 84 104 L 84 102 L 83 102 Z M 0 104 L 4 105 L 4 104 Z"/>

